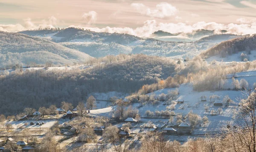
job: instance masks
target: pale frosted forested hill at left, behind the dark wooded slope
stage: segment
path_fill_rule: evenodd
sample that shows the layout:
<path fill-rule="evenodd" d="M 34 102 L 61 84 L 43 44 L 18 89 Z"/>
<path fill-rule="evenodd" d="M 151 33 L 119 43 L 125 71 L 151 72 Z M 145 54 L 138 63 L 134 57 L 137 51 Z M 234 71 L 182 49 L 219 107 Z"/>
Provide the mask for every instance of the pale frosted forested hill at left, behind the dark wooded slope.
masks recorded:
<path fill-rule="evenodd" d="M 0 32 L 0 67 L 20 64 L 55 65 L 82 63 L 90 60 L 88 54 L 69 49 L 58 43 L 25 34 Z"/>

